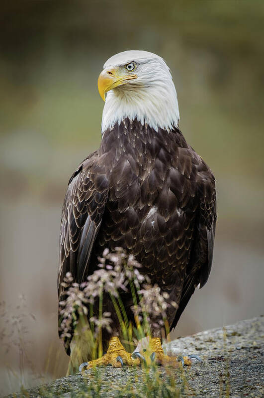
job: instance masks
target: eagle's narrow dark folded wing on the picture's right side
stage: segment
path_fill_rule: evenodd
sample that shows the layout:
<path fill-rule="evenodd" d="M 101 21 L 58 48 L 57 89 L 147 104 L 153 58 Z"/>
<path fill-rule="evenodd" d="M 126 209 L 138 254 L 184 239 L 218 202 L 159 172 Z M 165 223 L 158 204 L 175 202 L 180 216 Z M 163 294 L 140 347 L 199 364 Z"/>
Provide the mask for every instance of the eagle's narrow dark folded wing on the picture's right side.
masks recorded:
<path fill-rule="evenodd" d="M 198 201 L 198 206 L 196 210 L 193 245 L 178 309 L 171 329 L 176 326 L 195 287 L 199 285 L 201 288 L 207 282 L 212 267 L 215 224 L 217 219 L 215 179 L 203 161 L 200 167 L 201 169 L 196 174 L 196 200 Z"/>

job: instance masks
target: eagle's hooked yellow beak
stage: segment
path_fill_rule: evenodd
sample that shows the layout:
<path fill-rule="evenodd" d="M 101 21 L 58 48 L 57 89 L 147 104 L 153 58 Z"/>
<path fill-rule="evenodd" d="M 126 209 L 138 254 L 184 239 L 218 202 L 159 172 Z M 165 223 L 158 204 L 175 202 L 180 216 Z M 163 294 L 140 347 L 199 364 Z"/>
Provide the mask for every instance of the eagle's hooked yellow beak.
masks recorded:
<path fill-rule="evenodd" d="M 103 101 L 105 101 L 105 93 L 115 87 L 126 84 L 129 80 L 136 79 L 137 75 L 120 73 L 120 68 L 107 68 L 101 71 L 98 77 L 98 91 Z"/>

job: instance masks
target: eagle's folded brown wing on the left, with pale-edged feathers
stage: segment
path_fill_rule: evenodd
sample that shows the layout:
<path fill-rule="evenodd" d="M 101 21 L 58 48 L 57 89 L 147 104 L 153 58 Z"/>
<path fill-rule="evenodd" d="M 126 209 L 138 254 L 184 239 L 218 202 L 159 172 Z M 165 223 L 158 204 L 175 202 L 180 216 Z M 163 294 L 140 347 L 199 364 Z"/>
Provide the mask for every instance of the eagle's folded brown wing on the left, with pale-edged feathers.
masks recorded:
<path fill-rule="evenodd" d="M 108 181 L 98 161 L 98 152 L 91 153 L 72 175 L 62 208 L 58 295 L 61 282 L 71 272 L 75 282 L 87 278 L 88 263 L 94 240 L 100 228 Z"/>

